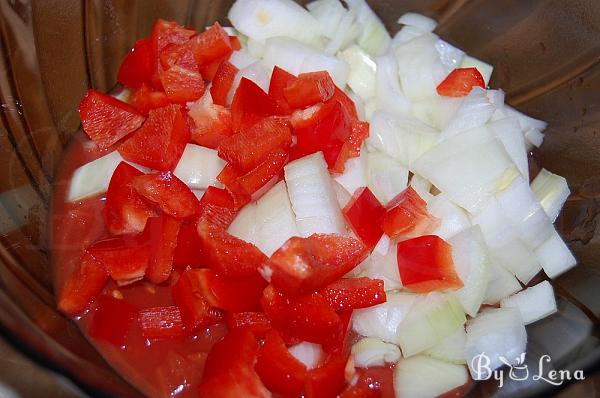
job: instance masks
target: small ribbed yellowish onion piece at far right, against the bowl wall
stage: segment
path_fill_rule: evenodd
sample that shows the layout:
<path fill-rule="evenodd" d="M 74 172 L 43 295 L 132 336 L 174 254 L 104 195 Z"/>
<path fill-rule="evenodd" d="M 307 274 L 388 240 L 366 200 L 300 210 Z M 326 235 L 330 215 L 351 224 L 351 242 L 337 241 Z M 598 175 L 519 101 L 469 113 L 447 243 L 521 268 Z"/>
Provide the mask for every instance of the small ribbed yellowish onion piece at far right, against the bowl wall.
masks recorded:
<path fill-rule="evenodd" d="M 571 194 L 567 180 L 542 169 L 531 183 L 531 190 L 540 201 L 550 221 L 556 221 L 563 205 Z"/>

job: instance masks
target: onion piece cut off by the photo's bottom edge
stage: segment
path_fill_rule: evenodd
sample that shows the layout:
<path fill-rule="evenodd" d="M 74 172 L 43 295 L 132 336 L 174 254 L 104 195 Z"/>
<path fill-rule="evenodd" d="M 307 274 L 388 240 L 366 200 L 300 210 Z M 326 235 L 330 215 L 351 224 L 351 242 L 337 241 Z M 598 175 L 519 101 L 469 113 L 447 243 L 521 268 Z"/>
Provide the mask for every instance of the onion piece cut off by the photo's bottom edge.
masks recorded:
<path fill-rule="evenodd" d="M 464 385 L 467 369 L 425 355 L 401 359 L 394 370 L 397 397 L 433 398 Z"/>

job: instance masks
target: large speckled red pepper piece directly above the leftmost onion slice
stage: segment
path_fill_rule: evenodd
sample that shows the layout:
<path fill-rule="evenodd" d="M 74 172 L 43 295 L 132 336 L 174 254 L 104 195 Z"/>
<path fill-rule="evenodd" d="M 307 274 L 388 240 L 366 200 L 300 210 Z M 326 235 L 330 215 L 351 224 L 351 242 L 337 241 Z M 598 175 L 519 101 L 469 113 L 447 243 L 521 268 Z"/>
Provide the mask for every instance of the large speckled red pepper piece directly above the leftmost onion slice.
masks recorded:
<path fill-rule="evenodd" d="M 190 130 L 180 105 L 152 109 L 148 119 L 119 146 L 125 160 L 154 170 L 172 170 L 177 166 Z"/>

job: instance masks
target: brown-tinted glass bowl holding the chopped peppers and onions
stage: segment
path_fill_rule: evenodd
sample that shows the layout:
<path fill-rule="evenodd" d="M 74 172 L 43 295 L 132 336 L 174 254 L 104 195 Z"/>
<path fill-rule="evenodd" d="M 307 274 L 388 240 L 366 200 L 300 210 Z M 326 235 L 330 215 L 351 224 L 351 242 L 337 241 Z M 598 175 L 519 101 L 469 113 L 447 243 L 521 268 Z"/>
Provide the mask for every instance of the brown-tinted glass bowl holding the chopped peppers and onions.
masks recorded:
<path fill-rule="evenodd" d="M 554 281 L 559 313 L 528 327 L 528 361 L 557 369 L 600 362 L 600 2 L 598 0 L 370 1 L 394 33 L 417 11 L 437 33 L 495 66 L 493 87 L 550 122 L 539 164 L 567 177 L 572 196 L 558 221 L 579 267 Z M 110 90 L 118 65 L 157 18 L 202 28 L 227 24 L 230 1 L 7 0 L 0 2 L 0 326 L 11 341 L 97 396 L 134 397 L 76 326 L 55 310 L 49 198 L 61 153 L 79 129 L 88 87 Z M 520 382 L 472 396 L 548 393 Z"/>

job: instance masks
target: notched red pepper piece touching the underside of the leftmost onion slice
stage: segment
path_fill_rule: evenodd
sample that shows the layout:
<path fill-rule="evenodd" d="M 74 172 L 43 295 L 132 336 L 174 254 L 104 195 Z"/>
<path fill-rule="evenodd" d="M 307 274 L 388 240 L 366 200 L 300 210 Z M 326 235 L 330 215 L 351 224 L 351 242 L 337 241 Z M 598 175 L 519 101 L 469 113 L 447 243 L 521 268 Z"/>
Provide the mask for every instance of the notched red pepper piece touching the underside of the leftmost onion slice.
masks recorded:
<path fill-rule="evenodd" d="M 102 214 L 106 228 L 113 235 L 142 232 L 148 217 L 157 212 L 129 185 L 144 173 L 121 162 L 110 179 Z"/>

